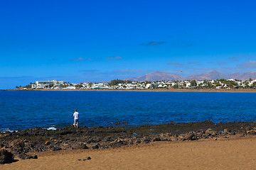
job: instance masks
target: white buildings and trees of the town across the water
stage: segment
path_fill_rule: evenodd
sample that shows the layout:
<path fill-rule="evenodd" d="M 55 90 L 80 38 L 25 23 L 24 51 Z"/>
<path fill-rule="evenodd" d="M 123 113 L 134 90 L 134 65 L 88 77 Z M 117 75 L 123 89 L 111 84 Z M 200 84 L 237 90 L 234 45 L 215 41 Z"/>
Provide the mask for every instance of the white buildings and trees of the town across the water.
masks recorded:
<path fill-rule="evenodd" d="M 172 80 L 172 81 L 129 81 L 114 79 L 109 83 L 82 82 L 79 84 L 68 81 L 36 81 L 16 89 L 55 89 L 55 90 L 135 90 L 135 89 L 255 89 L 256 79 L 216 79 L 216 80 Z"/>

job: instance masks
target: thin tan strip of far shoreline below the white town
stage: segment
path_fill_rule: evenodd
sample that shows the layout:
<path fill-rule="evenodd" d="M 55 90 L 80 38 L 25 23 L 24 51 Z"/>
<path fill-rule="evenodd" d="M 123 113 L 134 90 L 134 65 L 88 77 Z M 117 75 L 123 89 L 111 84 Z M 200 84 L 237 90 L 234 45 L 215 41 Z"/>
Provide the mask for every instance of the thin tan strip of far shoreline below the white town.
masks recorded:
<path fill-rule="evenodd" d="M 250 92 L 255 93 L 256 89 L 6 89 L 1 91 L 168 91 L 168 92 Z"/>

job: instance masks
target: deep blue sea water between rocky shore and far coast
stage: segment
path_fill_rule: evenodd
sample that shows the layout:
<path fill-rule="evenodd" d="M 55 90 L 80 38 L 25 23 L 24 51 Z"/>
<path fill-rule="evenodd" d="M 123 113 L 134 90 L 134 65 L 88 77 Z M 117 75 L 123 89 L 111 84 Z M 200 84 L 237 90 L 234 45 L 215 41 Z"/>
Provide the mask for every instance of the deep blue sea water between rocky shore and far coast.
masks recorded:
<path fill-rule="evenodd" d="M 157 91 L 0 91 L 0 130 L 79 125 L 127 126 L 256 120 L 256 93 Z"/>

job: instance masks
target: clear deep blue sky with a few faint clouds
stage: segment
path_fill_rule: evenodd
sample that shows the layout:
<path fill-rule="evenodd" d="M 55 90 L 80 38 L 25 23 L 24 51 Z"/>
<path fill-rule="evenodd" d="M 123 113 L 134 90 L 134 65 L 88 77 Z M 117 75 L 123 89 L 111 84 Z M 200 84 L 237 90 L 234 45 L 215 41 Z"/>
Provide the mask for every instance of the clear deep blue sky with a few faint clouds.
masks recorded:
<path fill-rule="evenodd" d="M 1 1 L 0 89 L 256 69 L 256 1 Z"/>

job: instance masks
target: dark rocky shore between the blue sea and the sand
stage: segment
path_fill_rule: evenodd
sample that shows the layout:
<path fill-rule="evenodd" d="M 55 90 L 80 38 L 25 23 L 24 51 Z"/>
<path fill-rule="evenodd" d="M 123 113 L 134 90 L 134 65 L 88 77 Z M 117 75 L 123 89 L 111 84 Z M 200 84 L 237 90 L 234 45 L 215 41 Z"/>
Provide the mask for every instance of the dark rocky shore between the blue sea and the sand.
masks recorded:
<path fill-rule="evenodd" d="M 119 123 L 117 123 L 118 125 Z M 169 123 L 124 128 L 68 126 L 58 130 L 31 128 L 0 133 L 0 164 L 19 159 L 37 159 L 37 152 L 70 149 L 107 149 L 156 141 L 220 140 L 256 135 L 256 122 L 243 123 Z"/>

